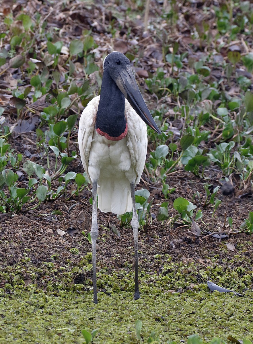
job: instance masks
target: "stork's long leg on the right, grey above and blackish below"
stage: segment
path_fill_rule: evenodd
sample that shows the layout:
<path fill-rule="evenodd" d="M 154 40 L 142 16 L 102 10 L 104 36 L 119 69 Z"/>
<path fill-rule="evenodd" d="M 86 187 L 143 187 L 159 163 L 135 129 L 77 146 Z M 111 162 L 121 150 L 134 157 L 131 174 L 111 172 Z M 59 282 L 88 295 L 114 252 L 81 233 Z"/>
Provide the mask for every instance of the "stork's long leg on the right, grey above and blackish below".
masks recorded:
<path fill-rule="evenodd" d="M 133 202 L 133 218 L 131 221 L 131 225 L 134 231 L 134 266 L 135 266 L 135 290 L 134 290 L 134 299 L 140 299 L 140 292 L 139 292 L 139 274 L 138 274 L 138 228 L 139 228 L 139 221 L 138 215 L 136 212 L 136 205 L 135 205 L 135 192 L 134 192 L 134 184 L 131 184 L 131 197 Z"/>

